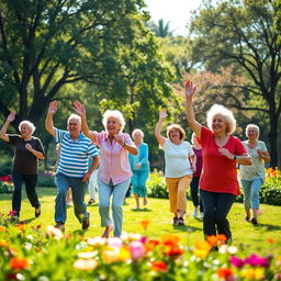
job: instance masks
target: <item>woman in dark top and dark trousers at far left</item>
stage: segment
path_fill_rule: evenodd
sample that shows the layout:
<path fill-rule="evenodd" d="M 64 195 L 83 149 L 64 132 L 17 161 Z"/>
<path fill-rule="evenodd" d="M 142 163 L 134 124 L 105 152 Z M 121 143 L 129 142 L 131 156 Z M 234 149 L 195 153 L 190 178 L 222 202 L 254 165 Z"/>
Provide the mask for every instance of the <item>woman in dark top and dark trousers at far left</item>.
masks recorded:
<path fill-rule="evenodd" d="M 20 135 L 7 134 L 7 128 L 15 119 L 15 113 L 11 112 L 0 131 L 0 137 L 14 146 L 14 157 L 12 166 L 13 218 L 19 220 L 21 211 L 22 184 L 25 183 L 26 194 L 31 205 L 35 209 L 35 217 L 41 215 L 41 203 L 35 191 L 38 175 L 38 159 L 45 159 L 44 148 L 40 138 L 32 136 L 35 126 L 30 121 L 22 121 L 19 125 Z"/>

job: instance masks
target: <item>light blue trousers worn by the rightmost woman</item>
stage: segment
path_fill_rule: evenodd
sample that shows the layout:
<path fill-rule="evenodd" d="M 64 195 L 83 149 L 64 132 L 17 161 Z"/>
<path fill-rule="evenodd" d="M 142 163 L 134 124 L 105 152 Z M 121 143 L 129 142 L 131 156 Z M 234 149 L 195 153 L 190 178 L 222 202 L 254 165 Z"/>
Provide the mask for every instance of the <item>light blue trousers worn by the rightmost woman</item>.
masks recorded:
<path fill-rule="evenodd" d="M 244 192 L 244 206 L 246 210 L 259 210 L 259 190 L 262 186 L 262 179 L 241 180 Z"/>

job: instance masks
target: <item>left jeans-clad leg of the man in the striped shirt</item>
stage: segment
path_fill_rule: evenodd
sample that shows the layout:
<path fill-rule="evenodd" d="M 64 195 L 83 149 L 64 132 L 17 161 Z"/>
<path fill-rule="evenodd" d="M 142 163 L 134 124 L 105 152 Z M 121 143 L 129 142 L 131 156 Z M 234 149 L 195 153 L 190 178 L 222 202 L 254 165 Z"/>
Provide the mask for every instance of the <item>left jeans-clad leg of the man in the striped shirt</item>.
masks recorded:
<path fill-rule="evenodd" d="M 55 205 L 55 222 L 65 223 L 66 222 L 66 193 L 70 187 L 68 178 L 63 173 L 57 173 L 55 176 L 57 184 L 57 196 Z"/>

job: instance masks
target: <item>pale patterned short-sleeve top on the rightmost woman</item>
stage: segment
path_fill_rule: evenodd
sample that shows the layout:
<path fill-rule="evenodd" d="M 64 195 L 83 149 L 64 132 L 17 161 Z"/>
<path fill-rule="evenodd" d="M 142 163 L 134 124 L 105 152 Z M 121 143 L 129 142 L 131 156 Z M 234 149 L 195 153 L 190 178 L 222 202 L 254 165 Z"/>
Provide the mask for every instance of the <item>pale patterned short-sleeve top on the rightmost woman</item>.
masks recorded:
<path fill-rule="evenodd" d="M 243 145 L 245 146 L 247 153 L 251 157 L 251 165 L 245 166 L 240 165 L 239 178 L 241 180 L 254 180 L 255 178 L 260 177 L 265 182 L 266 179 L 266 170 L 265 170 L 265 161 L 259 157 L 258 149 L 261 151 L 268 151 L 267 146 L 263 142 L 257 140 L 257 145 L 255 148 L 249 148 L 247 145 L 248 140 L 244 140 Z"/>

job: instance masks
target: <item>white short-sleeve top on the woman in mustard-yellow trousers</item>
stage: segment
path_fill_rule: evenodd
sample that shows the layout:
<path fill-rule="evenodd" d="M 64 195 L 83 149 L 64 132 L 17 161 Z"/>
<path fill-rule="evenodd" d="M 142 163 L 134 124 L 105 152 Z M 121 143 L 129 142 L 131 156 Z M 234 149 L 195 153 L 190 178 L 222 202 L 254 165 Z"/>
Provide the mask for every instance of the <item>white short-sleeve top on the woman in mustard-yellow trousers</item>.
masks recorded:
<path fill-rule="evenodd" d="M 193 173 L 189 157 L 194 153 L 189 142 L 183 140 L 176 145 L 169 138 L 165 138 L 162 149 L 165 153 L 166 178 L 181 178 Z"/>

